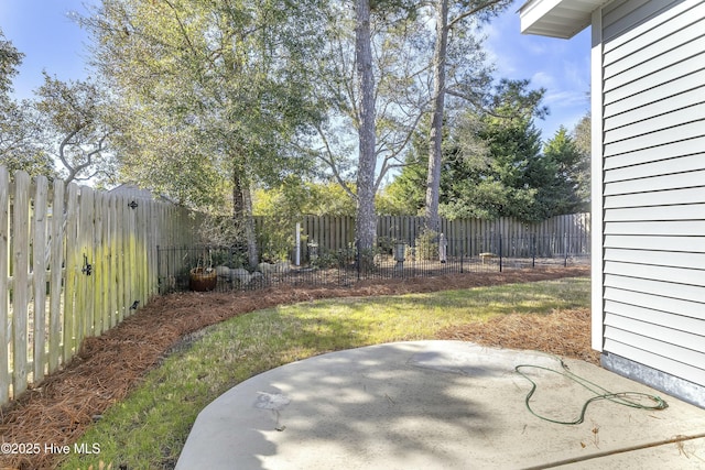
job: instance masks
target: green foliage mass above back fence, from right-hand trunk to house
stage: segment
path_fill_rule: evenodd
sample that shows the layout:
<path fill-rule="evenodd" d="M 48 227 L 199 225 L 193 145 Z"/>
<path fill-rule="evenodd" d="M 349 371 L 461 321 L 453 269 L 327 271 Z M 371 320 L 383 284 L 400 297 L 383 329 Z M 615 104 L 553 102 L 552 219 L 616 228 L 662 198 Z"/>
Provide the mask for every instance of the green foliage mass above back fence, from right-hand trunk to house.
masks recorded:
<path fill-rule="evenodd" d="M 584 155 L 564 129 L 542 147 L 533 121 L 541 112 L 539 101 L 517 99 L 516 86 L 500 85 L 494 108 L 482 113 L 467 109 L 446 128 L 441 216 L 539 221 L 585 209 L 579 193 Z M 423 210 L 427 145 L 423 134 L 414 139 L 408 166 L 386 188 L 386 199 L 392 203 L 388 211 L 416 215 Z"/>

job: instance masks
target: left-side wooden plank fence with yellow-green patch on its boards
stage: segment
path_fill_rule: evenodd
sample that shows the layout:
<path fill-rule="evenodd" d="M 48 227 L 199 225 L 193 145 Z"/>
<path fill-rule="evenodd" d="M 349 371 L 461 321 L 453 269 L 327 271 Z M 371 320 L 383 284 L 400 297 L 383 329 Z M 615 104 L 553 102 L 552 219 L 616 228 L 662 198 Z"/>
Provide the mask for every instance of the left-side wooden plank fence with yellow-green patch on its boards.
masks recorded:
<path fill-rule="evenodd" d="M 193 243 L 187 211 L 0 166 L 0 405 L 159 292 L 156 247 Z"/>

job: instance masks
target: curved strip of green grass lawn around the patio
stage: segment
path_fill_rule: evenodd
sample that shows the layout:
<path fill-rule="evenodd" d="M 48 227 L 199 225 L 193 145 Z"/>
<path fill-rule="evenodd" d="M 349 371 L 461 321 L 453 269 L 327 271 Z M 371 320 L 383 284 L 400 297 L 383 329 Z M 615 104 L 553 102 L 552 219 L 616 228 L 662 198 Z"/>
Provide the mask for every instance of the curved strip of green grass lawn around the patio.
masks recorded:
<path fill-rule="evenodd" d="M 79 440 L 99 455 L 72 455 L 64 469 L 173 468 L 196 415 L 239 382 L 324 352 L 437 338 L 444 328 L 511 313 L 587 307 L 589 278 L 462 291 L 315 300 L 252 311 L 191 335 Z"/>

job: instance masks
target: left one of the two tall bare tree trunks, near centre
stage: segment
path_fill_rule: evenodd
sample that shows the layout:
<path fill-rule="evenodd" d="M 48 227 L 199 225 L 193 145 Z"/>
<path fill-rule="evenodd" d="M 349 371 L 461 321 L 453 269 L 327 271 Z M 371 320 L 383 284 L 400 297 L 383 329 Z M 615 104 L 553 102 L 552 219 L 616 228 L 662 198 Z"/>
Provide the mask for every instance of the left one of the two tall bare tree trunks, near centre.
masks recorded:
<path fill-rule="evenodd" d="M 375 244 L 377 218 L 375 214 L 375 77 L 372 76 L 372 47 L 370 32 L 370 2 L 356 1 L 355 56 L 359 88 L 359 161 L 357 168 L 356 245 L 369 251 Z"/>

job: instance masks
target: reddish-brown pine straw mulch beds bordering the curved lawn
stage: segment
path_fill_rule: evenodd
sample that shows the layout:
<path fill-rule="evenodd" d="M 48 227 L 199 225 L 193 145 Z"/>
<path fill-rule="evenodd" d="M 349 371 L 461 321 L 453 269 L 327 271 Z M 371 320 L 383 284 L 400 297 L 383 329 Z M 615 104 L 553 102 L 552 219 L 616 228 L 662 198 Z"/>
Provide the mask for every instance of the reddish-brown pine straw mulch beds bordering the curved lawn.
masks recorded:
<path fill-rule="evenodd" d="M 491 286 L 588 275 L 589 267 L 467 273 L 412 280 L 360 282 L 352 287 L 292 287 L 238 293 L 182 293 L 156 297 L 138 314 L 100 337 L 84 341 L 61 371 L 1 411 L 1 442 L 77 442 L 86 428 L 123 400 L 180 338 L 227 318 L 275 305 L 318 298 L 393 295 Z M 444 330 L 440 339 L 536 349 L 595 362 L 586 309 L 545 316 L 509 315 L 484 324 Z M 54 468 L 51 453 L 0 456 L 1 469 Z"/>

